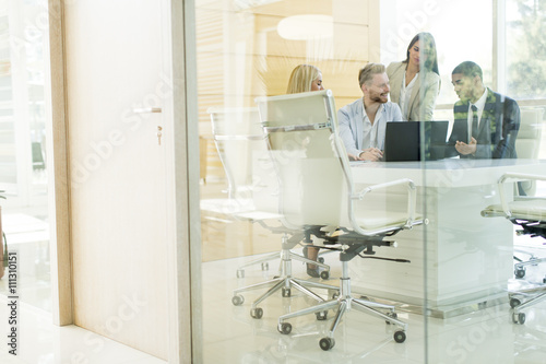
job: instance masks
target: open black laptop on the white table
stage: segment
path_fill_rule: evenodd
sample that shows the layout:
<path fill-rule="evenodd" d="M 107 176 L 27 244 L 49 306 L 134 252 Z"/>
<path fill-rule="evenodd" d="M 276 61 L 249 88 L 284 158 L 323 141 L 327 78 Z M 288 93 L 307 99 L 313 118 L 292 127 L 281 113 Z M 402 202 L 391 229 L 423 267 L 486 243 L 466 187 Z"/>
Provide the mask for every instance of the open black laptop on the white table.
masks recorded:
<path fill-rule="evenodd" d="M 387 122 L 383 161 L 416 162 L 442 160 L 448 137 L 448 120 Z M 422 128 L 425 131 L 422 155 Z"/>

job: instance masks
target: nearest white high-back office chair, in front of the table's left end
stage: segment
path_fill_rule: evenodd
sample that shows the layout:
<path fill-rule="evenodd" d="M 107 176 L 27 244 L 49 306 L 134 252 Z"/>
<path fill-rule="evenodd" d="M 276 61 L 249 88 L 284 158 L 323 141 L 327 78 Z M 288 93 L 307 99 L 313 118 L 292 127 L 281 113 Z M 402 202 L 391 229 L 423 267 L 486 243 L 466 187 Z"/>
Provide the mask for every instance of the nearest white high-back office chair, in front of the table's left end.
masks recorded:
<path fill-rule="evenodd" d="M 294 228 L 340 226 L 333 233 L 314 230 L 318 237 L 341 245 L 340 295 L 331 301 L 322 300 L 317 306 L 281 316 L 278 331 L 284 334 L 292 331 L 292 325 L 286 321 L 290 318 L 314 313 L 318 319 L 327 319 L 327 312 L 337 308 L 328 337 L 320 340 L 320 348 L 330 350 L 335 344 L 334 331 L 342 316 L 356 308 L 400 327 L 394 340 L 403 342 L 406 324 L 396 319 L 393 306 L 352 296 L 348 261 L 357 256 L 377 258 L 372 256 L 375 246 L 395 245 L 395 242 L 383 240 L 385 237 L 423 223 L 415 214 L 415 186 L 411 180 L 403 179 L 359 191 L 354 189 L 347 154 L 337 136 L 335 106 L 330 90 L 261 97 L 257 98 L 257 104 L 280 175 L 281 212 L 285 224 Z M 372 200 L 373 192 L 393 186 L 407 188 L 403 209 L 375 210 L 367 204 L 368 197 Z"/>

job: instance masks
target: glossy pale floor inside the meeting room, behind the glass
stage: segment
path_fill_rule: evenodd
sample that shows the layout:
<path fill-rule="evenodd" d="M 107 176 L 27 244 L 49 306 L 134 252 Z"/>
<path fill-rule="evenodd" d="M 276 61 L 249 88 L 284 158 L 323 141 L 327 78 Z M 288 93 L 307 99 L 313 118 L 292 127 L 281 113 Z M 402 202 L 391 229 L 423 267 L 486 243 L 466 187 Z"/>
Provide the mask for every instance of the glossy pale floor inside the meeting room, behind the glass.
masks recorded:
<path fill-rule="evenodd" d="M 546 256 L 546 249 L 534 250 L 537 256 Z M 329 282 L 337 284 L 337 257 L 331 254 L 325 259 L 332 265 L 333 279 Z M 330 329 L 332 312 L 325 321 L 318 321 L 312 314 L 292 319 L 293 330 L 287 336 L 276 330 L 280 315 L 313 304 L 298 291 L 293 290 L 292 297 L 282 297 L 278 292 L 263 301 L 261 319 L 249 313 L 252 300 L 263 290 L 244 293 L 240 306 L 230 303 L 233 289 L 275 274 L 276 262 L 271 262 L 269 271 L 256 266 L 246 270 L 245 278 L 237 279 L 236 268 L 242 261 L 230 259 L 203 266 L 205 363 L 425 363 L 426 357 L 435 364 L 546 363 L 546 300 L 524 310 L 523 326 L 511 322 L 508 303 L 449 319 L 429 318 L 427 322 L 422 315 L 399 313 L 399 318 L 408 324 L 404 343 L 394 342 L 394 328 L 384 320 L 352 309 L 337 327 L 335 347 L 323 351 L 319 340 Z M 294 271 L 294 275 L 305 278 L 301 263 L 295 263 Z M 529 267 L 525 279 L 542 283 L 544 274 L 546 263 Z M 510 287 L 520 284 L 513 280 Z"/>

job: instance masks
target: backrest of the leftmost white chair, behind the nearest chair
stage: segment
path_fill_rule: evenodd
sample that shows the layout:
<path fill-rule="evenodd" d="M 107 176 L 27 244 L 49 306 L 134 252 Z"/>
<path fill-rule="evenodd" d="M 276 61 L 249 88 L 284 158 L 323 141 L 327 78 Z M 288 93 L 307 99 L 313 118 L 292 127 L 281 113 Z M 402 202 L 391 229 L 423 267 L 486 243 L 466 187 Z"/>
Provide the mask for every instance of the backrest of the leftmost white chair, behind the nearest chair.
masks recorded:
<path fill-rule="evenodd" d="M 229 198 L 253 209 L 278 211 L 278 184 L 257 108 L 210 108 L 214 142 Z"/>

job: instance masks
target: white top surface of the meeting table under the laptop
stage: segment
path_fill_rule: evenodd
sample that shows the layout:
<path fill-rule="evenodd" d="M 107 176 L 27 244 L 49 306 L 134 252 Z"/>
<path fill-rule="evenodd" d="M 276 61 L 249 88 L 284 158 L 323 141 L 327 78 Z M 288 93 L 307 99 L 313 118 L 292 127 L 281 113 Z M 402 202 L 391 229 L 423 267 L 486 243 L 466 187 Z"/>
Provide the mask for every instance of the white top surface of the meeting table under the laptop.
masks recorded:
<path fill-rule="evenodd" d="M 546 175 L 541 160 L 461 160 L 427 162 L 351 162 L 355 184 L 380 184 L 410 178 L 416 186 L 468 187 L 496 184 L 502 174 Z"/>

